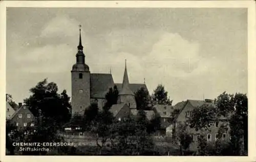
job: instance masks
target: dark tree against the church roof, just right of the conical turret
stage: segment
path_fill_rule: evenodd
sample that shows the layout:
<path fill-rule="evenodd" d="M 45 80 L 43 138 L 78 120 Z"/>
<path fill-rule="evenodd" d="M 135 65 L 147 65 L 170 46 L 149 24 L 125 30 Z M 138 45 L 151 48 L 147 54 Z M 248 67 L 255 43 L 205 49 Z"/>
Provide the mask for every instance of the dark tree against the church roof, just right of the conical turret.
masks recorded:
<path fill-rule="evenodd" d="M 135 100 L 137 107 L 142 110 L 148 110 L 150 107 L 148 106 L 150 104 L 150 95 L 148 94 L 148 91 L 145 90 L 144 87 L 140 88 L 135 93 Z"/>

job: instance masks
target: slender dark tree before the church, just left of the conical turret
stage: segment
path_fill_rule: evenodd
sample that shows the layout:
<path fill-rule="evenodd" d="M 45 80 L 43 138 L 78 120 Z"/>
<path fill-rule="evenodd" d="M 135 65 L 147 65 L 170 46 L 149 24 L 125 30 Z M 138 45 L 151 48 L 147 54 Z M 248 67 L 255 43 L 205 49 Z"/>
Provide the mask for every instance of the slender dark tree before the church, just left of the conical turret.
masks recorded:
<path fill-rule="evenodd" d="M 105 95 L 106 103 L 103 106 L 103 109 L 110 109 L 112 105 L 117 104 L 118 94 L 117 86 L 115 85 L 113 88 L 111 87 Z"/>

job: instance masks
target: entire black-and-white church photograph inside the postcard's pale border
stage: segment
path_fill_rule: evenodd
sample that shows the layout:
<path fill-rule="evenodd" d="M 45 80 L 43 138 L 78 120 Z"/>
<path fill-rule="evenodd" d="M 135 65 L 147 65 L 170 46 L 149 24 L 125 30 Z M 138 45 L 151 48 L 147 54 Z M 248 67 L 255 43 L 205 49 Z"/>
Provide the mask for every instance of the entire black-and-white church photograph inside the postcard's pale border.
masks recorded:
<path fill-rule="evenodd" d="M 248 156 L 248 8 L 110 3 L 6 7 L 5 155 Z"/>

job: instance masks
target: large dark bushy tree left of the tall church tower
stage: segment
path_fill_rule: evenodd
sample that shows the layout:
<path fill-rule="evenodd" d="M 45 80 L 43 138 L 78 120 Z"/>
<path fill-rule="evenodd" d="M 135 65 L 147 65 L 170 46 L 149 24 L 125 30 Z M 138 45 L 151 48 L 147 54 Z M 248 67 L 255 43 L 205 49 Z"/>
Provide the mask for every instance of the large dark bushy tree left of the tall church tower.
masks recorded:
<path fill-rule="evenodd" d="M 54 82 L 47 82 L 47 79 L 40 81 L 35 87 L 30 89 L 32 95 L 24 100 L 35 117 L 39 117 L 39 112 L 46 117 L 55 119 L 60 125 L 70 120 L 70 97 L 67 91 L 57 93 L 58 87 Z"/>

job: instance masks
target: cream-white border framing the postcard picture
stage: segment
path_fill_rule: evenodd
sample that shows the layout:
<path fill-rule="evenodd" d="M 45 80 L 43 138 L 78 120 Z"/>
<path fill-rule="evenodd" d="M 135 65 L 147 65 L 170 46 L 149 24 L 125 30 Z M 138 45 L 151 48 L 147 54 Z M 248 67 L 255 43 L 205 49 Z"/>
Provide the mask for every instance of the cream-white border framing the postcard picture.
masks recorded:
<path fill-rule="evenodd" d="M 255 3 L 254 1 L 1 1 L 0 2 L 0 160 L 1 161 L 256 161 L 256 67 L 255 67 Z M 248 105 L 249 156 L 5 156 L 5 92 L 6 92 L 6 7 L 101 7 L 101 8 L 247 8 L 248 9 Z"/>

